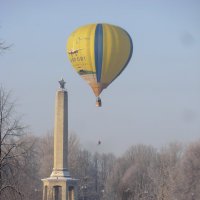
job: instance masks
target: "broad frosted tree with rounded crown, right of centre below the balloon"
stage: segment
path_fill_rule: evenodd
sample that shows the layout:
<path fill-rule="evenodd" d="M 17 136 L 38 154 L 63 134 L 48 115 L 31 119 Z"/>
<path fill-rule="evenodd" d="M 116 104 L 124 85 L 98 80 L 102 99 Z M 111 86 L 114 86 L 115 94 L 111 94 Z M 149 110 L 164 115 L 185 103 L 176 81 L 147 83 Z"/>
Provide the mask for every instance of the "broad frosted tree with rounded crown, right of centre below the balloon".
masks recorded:
<path fill-rule="evenodd" d="M 132 146 L 114 164 L 106 180 L 106 200 L 150 199 L 153 193 L 153 181 L 149 168 L 156 160 L 156 150 L 150 146 Z"/>

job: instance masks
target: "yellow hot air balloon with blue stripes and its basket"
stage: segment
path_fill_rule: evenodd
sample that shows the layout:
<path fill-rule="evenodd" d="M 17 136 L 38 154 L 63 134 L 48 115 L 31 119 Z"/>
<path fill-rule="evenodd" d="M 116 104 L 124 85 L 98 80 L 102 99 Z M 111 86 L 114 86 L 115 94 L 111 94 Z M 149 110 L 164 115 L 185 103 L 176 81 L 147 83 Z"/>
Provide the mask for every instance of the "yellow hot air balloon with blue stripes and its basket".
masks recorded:
<path fill-rule="evenodd" d="M 122 28 L 111 24 L 89 24 L 75 30 L 67 41 L 68 58 L 92 88 L 101 106 L 99 95 L 125 69 L 133 51 L 132 40 Z"/>

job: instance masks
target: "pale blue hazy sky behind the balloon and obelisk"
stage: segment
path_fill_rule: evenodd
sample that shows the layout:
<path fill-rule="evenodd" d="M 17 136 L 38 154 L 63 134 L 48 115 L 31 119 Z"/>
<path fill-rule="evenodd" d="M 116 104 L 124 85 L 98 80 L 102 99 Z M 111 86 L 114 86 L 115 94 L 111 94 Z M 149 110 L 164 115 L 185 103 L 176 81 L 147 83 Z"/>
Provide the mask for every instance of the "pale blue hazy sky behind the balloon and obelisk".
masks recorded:
<path fill-rule="evenodd" d="M 197 140 L 199 10 L 199 0 L 0 0 L 0 39 L 13 44 L 0 55 L 0 84 L 13 90 L 23 121 L 36 135 L 53 130 L 63 77 L 69 131 L 89 150 L 119 155 L 132 144 Z M 134 49 L 125 71 L 102 93 L 103 107 L 96 108 L 65 46 L 76 28 L 101 22 L 126 29 Z"/>

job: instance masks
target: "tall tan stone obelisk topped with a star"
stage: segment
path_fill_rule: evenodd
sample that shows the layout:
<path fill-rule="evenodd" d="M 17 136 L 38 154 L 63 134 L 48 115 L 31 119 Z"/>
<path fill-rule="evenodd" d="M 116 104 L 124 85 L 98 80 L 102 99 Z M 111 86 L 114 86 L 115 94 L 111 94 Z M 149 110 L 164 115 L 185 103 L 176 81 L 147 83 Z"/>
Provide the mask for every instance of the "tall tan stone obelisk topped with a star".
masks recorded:
<path fill-rule="evenodd" d="M 68 94 L 64 80 L 56 93 L 54 124 L 54 165 L 43 181 L 43 200 L 77 200 L 77 180 L 68 171 Z"/>

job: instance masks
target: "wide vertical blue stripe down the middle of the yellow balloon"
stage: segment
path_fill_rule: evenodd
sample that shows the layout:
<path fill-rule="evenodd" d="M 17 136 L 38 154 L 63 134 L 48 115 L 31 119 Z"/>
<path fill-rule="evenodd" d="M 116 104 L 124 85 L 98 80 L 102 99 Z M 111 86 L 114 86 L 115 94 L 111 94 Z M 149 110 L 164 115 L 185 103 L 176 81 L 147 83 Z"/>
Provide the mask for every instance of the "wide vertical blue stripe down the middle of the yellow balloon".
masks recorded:
<path fill-rule="evenodd" d="M 100 82 L 102 62 L 103 62 L 103 26 L 102 24 L 97 24 L 96 26 L 94 49 L 95 49 L 95 66 L 96 66 L 97 82 Z"/>

